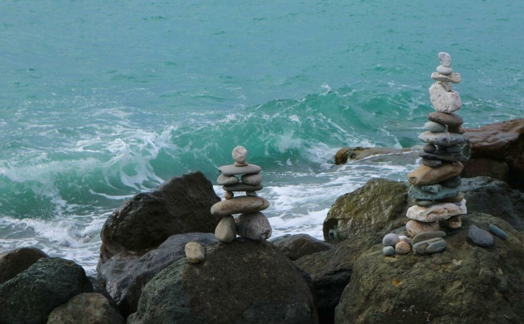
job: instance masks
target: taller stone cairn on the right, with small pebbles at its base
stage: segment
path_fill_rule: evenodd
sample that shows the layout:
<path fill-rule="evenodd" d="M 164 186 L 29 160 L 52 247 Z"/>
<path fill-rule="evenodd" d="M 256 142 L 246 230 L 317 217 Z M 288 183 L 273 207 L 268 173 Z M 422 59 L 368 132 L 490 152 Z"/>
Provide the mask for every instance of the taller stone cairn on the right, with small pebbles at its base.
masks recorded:
<path fill-rule="evenodd" d="M 387 234 L 383 240 L 386 255 L 409 252 L 409 243 L 416 253 L 444 250 L 446 233 L 440 228 L 461 228 L 460 215 L 467 213 L 460 173 L 464 167 L 461 162 L 468 160 L 461 153 L 468 139 L 463 135 L 462 117 L 454 114 L 462 102 L 452 88 L 452 83 L 461 82 L 461 75 L 453 73 L 450 54 L 440 52 L 439 61 L 437 72 L 431 74 L 436 82 L 429 88 L 436 111 L 428 115 L 429 121 L 424 125 L 427 131 L 419 135 L 427 144 L 419 154 L 421 165 L 408 174 L 411 183 L 408 194 L 414 205 L 408 209 L 406 216 L 410 220 L 406 229 L 412 240 Z"/>

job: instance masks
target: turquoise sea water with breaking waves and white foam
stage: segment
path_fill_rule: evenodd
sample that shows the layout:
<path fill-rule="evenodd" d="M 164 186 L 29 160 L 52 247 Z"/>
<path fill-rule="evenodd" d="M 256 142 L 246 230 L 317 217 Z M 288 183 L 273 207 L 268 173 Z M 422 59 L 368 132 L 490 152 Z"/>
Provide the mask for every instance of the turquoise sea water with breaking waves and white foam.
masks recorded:
<path fill-rule="evenodd" d="M 524 116 L 523 18 L 522 1 L 3 1 L 0 252 L 92 272 L 123 199 L 214 181 L 238 144 L 264 169 L 274 235 L 322 237 L 337 196 L 416 166 L 330 160 L 417 144 L 439 51 L 466 127 Z"/>

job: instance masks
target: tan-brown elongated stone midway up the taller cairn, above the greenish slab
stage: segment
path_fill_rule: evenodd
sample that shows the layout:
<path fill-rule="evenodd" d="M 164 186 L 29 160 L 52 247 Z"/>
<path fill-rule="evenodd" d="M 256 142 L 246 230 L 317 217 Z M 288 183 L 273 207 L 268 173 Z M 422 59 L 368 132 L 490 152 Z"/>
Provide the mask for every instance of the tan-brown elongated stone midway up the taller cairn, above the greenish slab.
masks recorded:
<path fill-rule="evenodd" d="M 459 175 L 464 165 L 460 162 L 442 163 L 438 167 L 420 165 L 416 170 L 408 174 L 408 181 L 416 186 L 435 184 Z"/>

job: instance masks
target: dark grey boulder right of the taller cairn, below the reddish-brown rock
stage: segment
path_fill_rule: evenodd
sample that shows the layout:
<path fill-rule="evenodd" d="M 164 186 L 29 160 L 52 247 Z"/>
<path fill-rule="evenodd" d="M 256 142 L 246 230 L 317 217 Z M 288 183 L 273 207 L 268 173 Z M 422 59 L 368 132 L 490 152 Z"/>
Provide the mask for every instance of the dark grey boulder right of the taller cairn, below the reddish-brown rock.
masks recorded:
<path fill-rule="evenodd" d="M 524 194 L 487 176 L 462 179 L 461 187 L 467 210 L 493 215 L 517 230 L 524 229 Z"/>

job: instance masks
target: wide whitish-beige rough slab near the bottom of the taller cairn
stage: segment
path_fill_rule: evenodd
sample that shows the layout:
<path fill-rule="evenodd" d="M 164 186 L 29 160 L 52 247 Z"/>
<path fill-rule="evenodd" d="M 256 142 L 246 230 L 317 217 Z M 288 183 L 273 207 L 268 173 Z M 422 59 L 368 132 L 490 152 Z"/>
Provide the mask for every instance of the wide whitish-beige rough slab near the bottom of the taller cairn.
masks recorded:
<path fill-rule="evenodd" d="M 429 207 L 414 205 L 408 208 L 406 216 L 409 219 L 433 222 L 464 214 L 467 214 L 465 199 L 462 200 L 460 206 L 457 206 L 454 203 L 435 203 Z"/>

